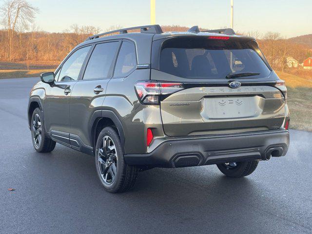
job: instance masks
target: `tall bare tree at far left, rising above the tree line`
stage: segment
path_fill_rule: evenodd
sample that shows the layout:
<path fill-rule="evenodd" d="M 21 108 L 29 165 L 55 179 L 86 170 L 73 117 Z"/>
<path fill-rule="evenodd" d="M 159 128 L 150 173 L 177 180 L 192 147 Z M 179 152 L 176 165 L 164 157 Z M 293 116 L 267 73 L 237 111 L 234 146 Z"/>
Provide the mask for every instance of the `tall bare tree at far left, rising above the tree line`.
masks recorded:
<path fill-rule="evenodd" d="M 27 30 L 33 22 L 36 7 L 30 5 L 26 0 L 6 0 L 0 9 L 2 13 L 2 24 L 8 33 L 8 59 L 13 59 L 13 39 L 17 30 Z"/>

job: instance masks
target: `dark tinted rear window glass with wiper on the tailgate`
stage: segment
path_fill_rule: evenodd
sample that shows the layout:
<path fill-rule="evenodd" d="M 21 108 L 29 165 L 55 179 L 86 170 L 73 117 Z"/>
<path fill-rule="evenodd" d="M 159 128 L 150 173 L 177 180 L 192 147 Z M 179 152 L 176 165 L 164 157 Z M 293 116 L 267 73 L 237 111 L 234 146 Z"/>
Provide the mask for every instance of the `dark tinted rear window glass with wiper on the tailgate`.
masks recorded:
<path fill-rule="evenodd" d="M 271 71 L 259 53 L 253 40 L 168 39 L 162 45 L 159 70 L 182 78 L 216 79 L 235 73 L 259 73 L 252 78 L 263 78 Z"/>

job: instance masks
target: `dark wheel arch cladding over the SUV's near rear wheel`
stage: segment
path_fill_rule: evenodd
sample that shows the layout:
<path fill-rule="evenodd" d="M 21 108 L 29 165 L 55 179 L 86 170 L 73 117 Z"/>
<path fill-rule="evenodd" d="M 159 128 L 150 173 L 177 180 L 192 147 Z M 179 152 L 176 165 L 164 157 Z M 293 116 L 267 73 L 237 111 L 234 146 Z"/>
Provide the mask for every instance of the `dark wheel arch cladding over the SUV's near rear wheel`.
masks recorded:
<path fill-rule="evenodd" d="M 98 110 L 95 111 L 91 117 L 89 124 L 89 135 L 92 142 L 92 147 L 95 152 L 95 147 L 97 144 L 97 139 L 100 131 L 108 126 L 113 126 L 116 128 L 116 132 L 120 137 L 120 142 L 122 145 L 122 152 L 125 154 L 124 142 L 125 136 L 121 121 L 113 111 L 108 110 Z"/>

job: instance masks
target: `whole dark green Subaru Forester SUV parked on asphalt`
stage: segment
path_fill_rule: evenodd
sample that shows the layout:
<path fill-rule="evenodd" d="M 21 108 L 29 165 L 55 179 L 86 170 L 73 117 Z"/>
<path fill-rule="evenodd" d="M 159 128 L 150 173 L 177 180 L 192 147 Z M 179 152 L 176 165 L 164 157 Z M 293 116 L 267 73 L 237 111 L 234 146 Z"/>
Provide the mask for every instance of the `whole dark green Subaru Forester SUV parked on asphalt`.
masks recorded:
<path fill-rule="evenodd" d="M 284 81 L 256 40 L 232 29 L 102 33 L 40 78 L 28 105 L 35 149 L 58 142 L 95 156 L 108 192 L 154 167 L 216 164 L 248 176 L 289 147 Z"/>

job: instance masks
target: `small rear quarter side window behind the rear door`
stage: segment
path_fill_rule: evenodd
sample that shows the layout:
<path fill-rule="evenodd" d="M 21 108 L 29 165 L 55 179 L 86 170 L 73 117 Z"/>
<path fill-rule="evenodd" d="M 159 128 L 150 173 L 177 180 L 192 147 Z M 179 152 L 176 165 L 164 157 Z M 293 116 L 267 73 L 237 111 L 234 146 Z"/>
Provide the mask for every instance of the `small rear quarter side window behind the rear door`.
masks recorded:
<path fill-rule="evenodd" d="M 114 77 L 127 76 L 137 65 L 136 48 L 134 43 L 123 41 L 114 72 Z"/>

